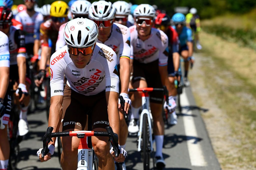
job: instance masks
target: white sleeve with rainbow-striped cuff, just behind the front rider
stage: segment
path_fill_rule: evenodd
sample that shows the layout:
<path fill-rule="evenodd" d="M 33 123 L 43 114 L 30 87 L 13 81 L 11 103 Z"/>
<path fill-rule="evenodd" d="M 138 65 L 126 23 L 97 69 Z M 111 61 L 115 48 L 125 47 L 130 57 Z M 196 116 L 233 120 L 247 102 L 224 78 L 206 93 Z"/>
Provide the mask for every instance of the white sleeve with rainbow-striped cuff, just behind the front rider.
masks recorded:
<path fill-rule="evenodd" d="M 122 30 L 123 43 L 119 47 L 119 58 L 130 59 L 131 47 L 130 47 L 130 30 L 124 27 Z"/>

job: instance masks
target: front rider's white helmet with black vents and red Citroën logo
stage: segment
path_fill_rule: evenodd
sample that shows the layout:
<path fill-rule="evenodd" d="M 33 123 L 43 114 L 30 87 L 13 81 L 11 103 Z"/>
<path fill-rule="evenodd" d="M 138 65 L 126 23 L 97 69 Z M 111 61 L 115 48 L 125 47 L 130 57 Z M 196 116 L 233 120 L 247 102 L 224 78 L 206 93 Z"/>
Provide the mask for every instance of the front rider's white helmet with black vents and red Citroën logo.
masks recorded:
<path fill-rule="evenodd" d="M 63 36 L 68 46 L 90 47 L 98 40 L 98 27 L 92 20 L 76 18 L 66 24 Z"/>

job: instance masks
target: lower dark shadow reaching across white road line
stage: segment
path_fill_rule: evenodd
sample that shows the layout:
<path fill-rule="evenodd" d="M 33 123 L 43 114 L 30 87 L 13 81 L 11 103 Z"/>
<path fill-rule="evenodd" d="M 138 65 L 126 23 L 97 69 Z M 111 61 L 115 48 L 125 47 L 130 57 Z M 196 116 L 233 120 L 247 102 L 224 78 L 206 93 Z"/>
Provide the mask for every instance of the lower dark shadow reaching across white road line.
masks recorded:
<path fill-rule="evenodd" d="M 185 136 L 185 135 L 177 135 L 177 134 L 166 134 L 164 137 L 164 148 L 169 149 L 175 147 L 178 143 L 182 143 L 184 141 L 188 141 L 194 139 L 194 143 L 200 142 L 203 140 L 202 138 L 198 138 L 195 136 Z"/>

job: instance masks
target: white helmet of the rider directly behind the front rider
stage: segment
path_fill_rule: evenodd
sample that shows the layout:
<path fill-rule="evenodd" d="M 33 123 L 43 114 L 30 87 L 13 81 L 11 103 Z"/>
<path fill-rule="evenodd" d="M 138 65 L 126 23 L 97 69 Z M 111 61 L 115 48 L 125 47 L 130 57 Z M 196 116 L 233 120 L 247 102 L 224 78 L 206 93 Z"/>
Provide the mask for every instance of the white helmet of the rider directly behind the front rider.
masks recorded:
<path fill-rule="evenodd" d="M 89 9 L 89 16 L 94 20 L 110 20 L 115 18 L 115 11 L 111 2 L 101 0 L 92 3 Z"/>

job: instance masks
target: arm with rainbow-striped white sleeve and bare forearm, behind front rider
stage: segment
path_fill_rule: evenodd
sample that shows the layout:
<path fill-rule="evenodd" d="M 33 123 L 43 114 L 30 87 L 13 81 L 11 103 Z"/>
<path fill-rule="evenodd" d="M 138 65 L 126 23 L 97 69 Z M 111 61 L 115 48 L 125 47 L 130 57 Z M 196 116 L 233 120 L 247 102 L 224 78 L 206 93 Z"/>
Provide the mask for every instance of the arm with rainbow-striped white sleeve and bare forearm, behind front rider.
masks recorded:
<path fill-rule="evenodd" d="M 125 34 L 122 33 L 123 43 L 120 44 L 119 53 L 120 53 L 120 81 L 121 81 L 121 93 L 128 94 L 128 86 L 130 80 L 130 30 L 127 27 Z"/>

